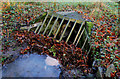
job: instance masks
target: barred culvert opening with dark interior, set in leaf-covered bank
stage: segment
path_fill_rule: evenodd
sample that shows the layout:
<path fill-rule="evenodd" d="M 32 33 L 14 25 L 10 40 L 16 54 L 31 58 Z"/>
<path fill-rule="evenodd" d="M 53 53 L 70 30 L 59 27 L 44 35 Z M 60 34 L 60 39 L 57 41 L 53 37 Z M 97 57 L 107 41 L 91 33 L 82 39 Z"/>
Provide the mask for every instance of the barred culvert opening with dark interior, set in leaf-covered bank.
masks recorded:
<path fill-rule="evenodd" d="M 50 19 L 47 23 L 47 26 L 44 28 L 44 23 L 46 22 L 48 15 L 51 15 L 51 14 L 52 14 L 52 16 L 50 17 Z M 60 16 L 60 17 L 58 17 L 58 16 Z M 64 40 L 68 44 L 71 43 L 71 44 L 75 45 L 75 47 L 81 46 L 80 48 L 82 50 L 87 49 L 87 52 L 89 54 L 91 47 L 90 46 L 89 46 L 89 48 L 85 47 L 86 44 L 89 45 L 89 42 L 88 42 L 89 36 L 87 34 L 87 28 L 85 27 L 86 20 L 81 21 L 81 20 L 77 20 L 77 19 L 74 19 L 74 18 L 69 18 L 69 17 L 66 17 L 66 16 L 67 15 L 64 16 L 64 15 L 60 15 L 58 13 L 48 12 L 44 21 L 34 30 L 34 32 L 36 34 L 53 37 L 54 39 L 57 39 L 59 42 Z M 56 19 L 54 20 L 55 22 L 52 25 L 52 27 L 50 28 L 50 30 L 48 31 L 48 27 L 51 24 L 51 21 L 54 17 L 56 17 Z M 58 23 L 58 27 L 55 31 L 55 34 L 52 35 L 52 32 L 54 30 L 54 27 L 56 25 L 57 20 L 60 20 L 60 22 Z M 64 21 L 66 21 L 67 24 L 65 24 L 65 27 L 63 27 L 61 34 L 59 34 Z M 70 23 L 71 23 L 72 26 L 69 26 Z M 73 38 L 72 41 L 70 41 L 70 39 L 73 35 L 72 33 L 73 33 L 76 25 L 78 25 L 78 29 L 75 31 L 75 37 Z M 67 28 L 70 28 L 69 33 L 68 33 L 69 35 L 64 36 L 66 31 L 67 31 Z M 42 30 L 42 29 L 44 29 L 44 30 Z M 28 31 L 31 31 L 31 28 L 29 28 Z M 58 34 L 59 34 L 59 38 L 57 38 Z M 66 37 L 66 38 L 64 39 L 64 37 Z M 81 39 L 82 39 L 82 41 L 81 41 Z M 86 57 L 87 57 L 87 55 L 86 55 Z"/>

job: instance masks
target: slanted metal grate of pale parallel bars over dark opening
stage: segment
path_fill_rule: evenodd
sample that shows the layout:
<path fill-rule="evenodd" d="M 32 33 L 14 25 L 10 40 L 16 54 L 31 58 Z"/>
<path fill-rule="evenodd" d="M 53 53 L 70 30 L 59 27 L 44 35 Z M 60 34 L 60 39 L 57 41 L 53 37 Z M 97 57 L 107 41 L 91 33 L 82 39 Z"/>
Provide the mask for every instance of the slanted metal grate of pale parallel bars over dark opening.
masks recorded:
<path fill-rule="evenodd" d="M 46 20 L 48 19 L 48 16 L 50 16 L 50 19 L 49 19 L 49 21 L 48 21 L 48 24 L 47 24 L 47 26 L 45 27 L 45 29 L 44 29 L 43 31 L 41 31 L 41 30 L 44 28 L 43 26 L 44 26 Z M 72 44 L 74 44 L 75 46 L 77 46 L 78 43 L 79 43 L 79 41 L 80 41 L 80 39 L 81 39 L 81 37 L 82 37 L 82 35 L 83 35 L 83 33 L 85 32 L 85 33 L 86 33 L 86 38 L 85 38 L 84 43 L 83 43 L 82 48 L 81 48 L 81 49 L 84 49 L 84 46 L 85 46 L 85 44 L 86 44 L 86 42 L 87 42 L 87 40 L 88 40 L 88 38 L 89 38 L 89 36 L 88 36 L 88 34 L 87 34 L 87 31 L 86 31 L 86 28 L 85 28 L 85 26 L 84 26 L 84 25 L 85 25 L 85 20 L 82 20 L 82 21 L 81 21 L 81 20 L 77 20 L 77 19 L 73 19 L 73 18 L 66 17 L 66 16 L 61 15 L 61 14 L 57 14 L 57 13 L 54 13 L 54 12 L 47 12 L 47 15 L 46 15 L 45 19 L 43 20 L 42 24 L 35 29 L 35 33 L 37 33 L 37 34 L 40 34 L 40 33 L 41 33 L 41 34 L 45 35 L 46 32 L 47 32 L 47 29 L 48 29 L 48 27 L 49 27 L 49 25 L 50 25 L 50 23 L 52 22 L 52 19 L 53 19 L 54 17 L 55 17 L 56 19 L 54 20 L 54 23 L 53 23 L 52 27 L 50 27 L 50 32 L 47 34 L 47 36 L 50 36 L 50 35 L 51 35 L 52 31 L 54 30 L 53 28 L 55 27 L 58 19 L 61 19 L 61 22 L 60 22 L 60 24 L 59 24 L 59 26 L 57 27 L 57 30 L 56 30 L 56 32 L 55 32 L 55 35 L 53 36 L 54 38 L 56 38 L 57 35 L 58 35 L 58 33 L 59 33 L 59 31 L 60 31 L 60 28 L 61 28 L 63 22 L 64 22 L 65 20 L 67 20 L 68 22 L 67 22 L 65 28 L 64 28 L 63 32 L 61 33 L 60 38 L 57 39 L 57 40 L 61 41 L 61 40 L 63 39 L 63 36 L 64 36 L 64 34 L 65 34 L 65 32 L 66 32 L 66 29 L 67 29 L 68 25 L 70 24 L 70 22 L 73 22 L 74 24 L 73 24 L 73 26 L 72 26 L 72 28 L 71 28 L 71 30 L 70 30 L 70 33 L 69 33 L 69 35 L 67 36 L 67 39 L 66 39 L 66 42 L 68 42 L 69 39 L 70 39 L 70 37 L 71 37 L 71 34 L 73 33 L 73 30 L 75 29 L 76 23 L 79 23 L 79 24 L 80 24 L 79 30 L 78 30 L 78 32 L 76 33 L 76 36 L 75 36 L 74 41 L 73 41 Z M 30 30 L 30 29 L 29 29 L 29 30 Z M 91 48 L 91 47 L 90 47 L 90 48 Z M 89 51 L 90 51 L 90 49 L 88 50 L 88 52 L 89 52 Z"/>

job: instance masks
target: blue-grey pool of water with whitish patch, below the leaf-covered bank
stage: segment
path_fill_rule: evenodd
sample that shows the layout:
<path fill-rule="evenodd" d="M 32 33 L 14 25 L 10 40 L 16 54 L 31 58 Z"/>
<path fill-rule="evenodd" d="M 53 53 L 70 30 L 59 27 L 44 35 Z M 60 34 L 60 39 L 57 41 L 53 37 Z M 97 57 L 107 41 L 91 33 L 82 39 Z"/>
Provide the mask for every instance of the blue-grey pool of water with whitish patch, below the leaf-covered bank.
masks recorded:
<path fill-rule="evenodd" d="M 56 63 L 52 64 L 48 60 Z M 2 77 L 59 77 L 60 72 L 57 60 L 45 55 L 30 54 L 3 67 Z"/>

